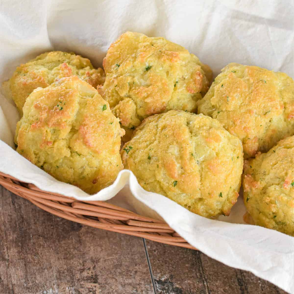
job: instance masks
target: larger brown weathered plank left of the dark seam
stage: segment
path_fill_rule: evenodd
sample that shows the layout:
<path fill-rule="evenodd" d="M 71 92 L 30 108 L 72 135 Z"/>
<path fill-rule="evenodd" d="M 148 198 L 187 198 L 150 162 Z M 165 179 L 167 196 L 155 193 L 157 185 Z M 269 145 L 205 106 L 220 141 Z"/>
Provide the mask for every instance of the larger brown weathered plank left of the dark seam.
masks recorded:
<path fill-rule="evenodd" d="M 1 186 L 0 223 L 1 294 L 154 293 L 142 238 L 58 218 Z"/>

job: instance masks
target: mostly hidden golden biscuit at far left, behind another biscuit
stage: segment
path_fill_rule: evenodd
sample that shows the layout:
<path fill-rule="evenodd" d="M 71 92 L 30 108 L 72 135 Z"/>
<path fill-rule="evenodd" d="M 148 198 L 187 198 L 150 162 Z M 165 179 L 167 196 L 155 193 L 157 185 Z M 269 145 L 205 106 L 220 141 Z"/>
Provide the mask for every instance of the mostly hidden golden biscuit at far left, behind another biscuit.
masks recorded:
<path fill-rule="evenodd" d="M 41 54 L 17 67 L 8 84 L 20 115 L 27 96 L 34 89 L 45 88 L 57 78 L 67 76 L 78 76 L 94 88 L 105 81 L 103 69 L 94 69 L 89 59 L 61 51 Z"/>

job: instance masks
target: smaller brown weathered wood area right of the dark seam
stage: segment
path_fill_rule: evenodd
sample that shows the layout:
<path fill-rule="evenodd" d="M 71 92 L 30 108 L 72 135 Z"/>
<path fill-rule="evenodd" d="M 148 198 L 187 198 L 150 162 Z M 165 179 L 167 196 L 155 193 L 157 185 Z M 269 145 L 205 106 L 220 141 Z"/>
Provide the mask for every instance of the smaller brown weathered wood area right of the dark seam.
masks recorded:
<path fill-rule="evenodd" d="M 146 240 L 157 294 L 286 294 L 243 270 L 186 248 Z"/>

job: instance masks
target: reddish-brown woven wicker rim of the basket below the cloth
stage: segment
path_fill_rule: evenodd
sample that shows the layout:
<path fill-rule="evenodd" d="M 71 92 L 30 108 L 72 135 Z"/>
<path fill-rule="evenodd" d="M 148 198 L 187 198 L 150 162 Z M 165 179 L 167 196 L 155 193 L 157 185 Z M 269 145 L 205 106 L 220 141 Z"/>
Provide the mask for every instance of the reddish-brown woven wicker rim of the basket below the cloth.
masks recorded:
<path fill-rule="evenodd" d="M 46 192 L 1 172 L 0 185 L 43 210 L 76 223 L 197 250 L 165 222 L 140 216 L 104 201 L 78 201 Z"/>

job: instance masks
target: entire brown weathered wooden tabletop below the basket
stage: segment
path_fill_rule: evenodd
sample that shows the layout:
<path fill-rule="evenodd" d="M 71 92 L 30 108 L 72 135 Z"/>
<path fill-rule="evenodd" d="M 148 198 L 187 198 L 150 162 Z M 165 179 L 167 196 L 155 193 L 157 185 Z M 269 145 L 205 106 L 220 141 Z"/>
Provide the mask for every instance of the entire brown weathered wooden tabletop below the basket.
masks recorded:
<path fill-rule="evenodd" d="M 203 253 L 74 223 L 0 186 L 0 294 L 286 293 Z"/>

